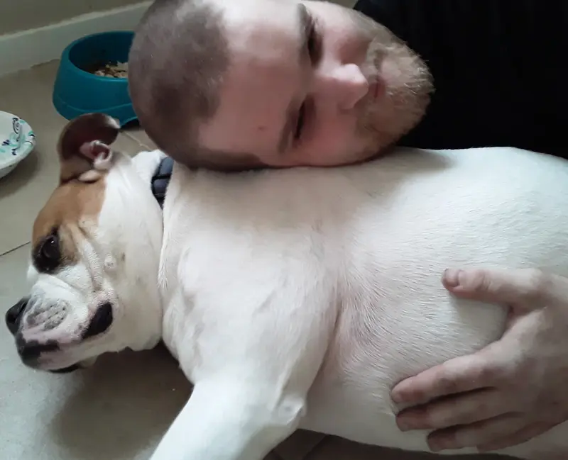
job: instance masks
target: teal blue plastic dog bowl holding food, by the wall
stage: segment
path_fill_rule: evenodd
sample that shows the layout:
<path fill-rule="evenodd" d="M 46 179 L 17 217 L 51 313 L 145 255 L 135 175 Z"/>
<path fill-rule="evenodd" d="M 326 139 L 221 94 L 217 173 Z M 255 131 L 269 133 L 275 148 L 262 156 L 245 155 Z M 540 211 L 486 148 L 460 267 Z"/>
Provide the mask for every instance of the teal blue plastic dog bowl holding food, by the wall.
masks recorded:
<path fill-rule="evenodd" d="M 102 77 L 92 72 L 105 64 L 128 62 L 133 32 L 103 32 L 75 40 L 61 56 L 53 89 L 53 105 L 72 120 L 83 113 L 106 113 L 121 126 L 136 120 L 128 79 Z"/>

